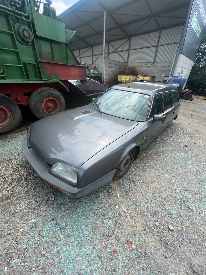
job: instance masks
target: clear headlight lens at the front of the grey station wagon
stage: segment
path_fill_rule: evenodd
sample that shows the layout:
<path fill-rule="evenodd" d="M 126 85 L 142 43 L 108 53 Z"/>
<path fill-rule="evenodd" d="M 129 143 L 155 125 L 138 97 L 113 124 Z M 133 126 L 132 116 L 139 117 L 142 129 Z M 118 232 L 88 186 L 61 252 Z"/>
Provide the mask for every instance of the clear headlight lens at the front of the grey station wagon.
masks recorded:
<path fill-rule="evenodd" d="M 62 162 L 55 162 L 50 169 L 52 174 L 62 178 L 73 186 L 76 186 L 77 171 L 76 168 Z"/>

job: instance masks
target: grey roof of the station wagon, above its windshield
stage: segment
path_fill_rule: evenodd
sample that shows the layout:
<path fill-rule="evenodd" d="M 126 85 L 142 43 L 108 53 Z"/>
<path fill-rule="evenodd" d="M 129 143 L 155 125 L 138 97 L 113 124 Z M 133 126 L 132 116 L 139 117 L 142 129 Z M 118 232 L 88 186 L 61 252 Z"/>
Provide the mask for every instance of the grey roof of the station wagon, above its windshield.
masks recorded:
<path fill-rule="evenodd" d="M 132 82 L 128 84 L 120 84 L 112 86 L 111 89 L 142 93 L 150 96 L 154 95 L 155 93 L 177 91 L 177 87 L 174 85 L 150 82 Z"/>

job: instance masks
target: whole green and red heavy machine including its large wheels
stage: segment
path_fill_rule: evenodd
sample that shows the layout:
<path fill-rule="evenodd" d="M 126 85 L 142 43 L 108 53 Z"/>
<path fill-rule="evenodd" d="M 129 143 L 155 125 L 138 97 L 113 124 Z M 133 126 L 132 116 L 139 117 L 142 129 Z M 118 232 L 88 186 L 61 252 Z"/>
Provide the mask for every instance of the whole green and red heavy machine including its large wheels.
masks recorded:
<path fill-rule="evenodd" d="M 68 45 L 74 34 L 50 0 L 0 1 L 0 134 L 19 126 L 19 104 L 37 118 L 65 110 L 68 80 L 87 79 Z"/>

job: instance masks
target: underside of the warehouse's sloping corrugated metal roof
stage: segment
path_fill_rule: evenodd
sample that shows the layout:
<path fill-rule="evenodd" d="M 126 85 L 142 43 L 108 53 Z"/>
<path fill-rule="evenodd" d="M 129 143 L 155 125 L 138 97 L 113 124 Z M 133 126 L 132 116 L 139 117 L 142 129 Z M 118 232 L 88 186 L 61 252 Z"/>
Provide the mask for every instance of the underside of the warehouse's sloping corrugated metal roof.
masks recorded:
<path fill-rule="evenodd" d="M 103 42 L 106 10 L 106 40 L 126 39 L 136 34 L 183 25 L 190 0 L 80 0 L 58 16 L 66 28 L 76 30 L 72 49 Z M 107 42 L 106 41 L 106 42 Z"/>

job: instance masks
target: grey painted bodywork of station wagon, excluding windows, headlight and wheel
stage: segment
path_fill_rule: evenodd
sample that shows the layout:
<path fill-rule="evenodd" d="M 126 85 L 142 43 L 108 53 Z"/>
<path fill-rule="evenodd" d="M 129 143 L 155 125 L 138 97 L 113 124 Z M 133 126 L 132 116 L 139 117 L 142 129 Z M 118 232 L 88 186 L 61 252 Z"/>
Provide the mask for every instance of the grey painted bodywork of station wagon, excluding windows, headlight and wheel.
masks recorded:
<path fill-rule="evenodd" d="M 164 121 L 149 118 L 153 99 L 159 93 L 177 91 L 176 87 L 161 84 L 133 83 L 112 87 L 150 96 L 145 121 L 132 121 L 101 114 L 89 106 L 64 111 L 30 126 L 31 133 L 23 141 L 23 153 L 37 174 L 72 197 L 81 197 L 107 184 L 124 156 L 135 148 L 136 154 L 149 144 L 177 117 L 180 103 L 161 115 Z M 56 161 L 78 168 L 77 185 L 70 186 L 49 174 Z M 46 165 L 44 168 L 42 168 Z"/>

